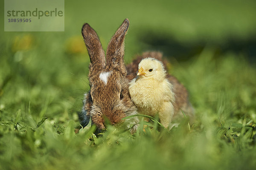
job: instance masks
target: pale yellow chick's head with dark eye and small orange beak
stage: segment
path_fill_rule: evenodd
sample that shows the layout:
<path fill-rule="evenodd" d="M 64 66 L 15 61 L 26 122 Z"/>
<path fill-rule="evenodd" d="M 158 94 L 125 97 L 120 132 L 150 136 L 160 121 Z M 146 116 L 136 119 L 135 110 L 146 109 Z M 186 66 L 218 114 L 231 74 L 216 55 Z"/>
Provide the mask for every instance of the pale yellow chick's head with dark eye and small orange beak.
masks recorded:
<path fill-rule="evenodd" d="M 161 81 L 166 76 L 166 70 L 164 69 L 163 63 L 155 58 L 145 58 L 139 63 L 139 70 L 137 75 L 144 77 L 145 79 L 153 78 Z"/>

